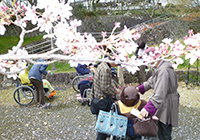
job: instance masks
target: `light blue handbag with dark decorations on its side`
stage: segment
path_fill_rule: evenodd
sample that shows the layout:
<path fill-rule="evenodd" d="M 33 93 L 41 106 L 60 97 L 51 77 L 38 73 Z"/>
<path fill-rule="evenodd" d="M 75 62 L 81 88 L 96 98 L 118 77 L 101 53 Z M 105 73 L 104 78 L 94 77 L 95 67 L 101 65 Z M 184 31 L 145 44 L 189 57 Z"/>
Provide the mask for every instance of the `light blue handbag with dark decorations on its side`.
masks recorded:
<path fill-rule="evenodd" d="M 128 118 L 118 115 L 117 106 L 112 104 L 110 112 L 99 111 L 95 130 L 99 133 L 126 138 Z"/>

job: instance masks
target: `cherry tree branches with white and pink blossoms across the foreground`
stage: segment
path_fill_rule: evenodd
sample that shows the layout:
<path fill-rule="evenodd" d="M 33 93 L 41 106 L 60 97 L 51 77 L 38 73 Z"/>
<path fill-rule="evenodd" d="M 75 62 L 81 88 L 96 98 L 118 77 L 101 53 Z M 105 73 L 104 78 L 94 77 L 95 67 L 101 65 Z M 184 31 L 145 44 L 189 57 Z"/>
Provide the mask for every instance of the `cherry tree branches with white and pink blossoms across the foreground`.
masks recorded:
<path fill-rule="evenodd" d="M 44 9 L 43 13 L 37 12 L 37 9 Z M 115 34 L 115 30 L 120 27 L 120 23 L 115 23 L 110 36 L 107 36 L 106 31 L 102 31 L 102 40 L 97 40 L 90 34 L 77 32 L 77 27 L 81 26 L 80 20 L 70 20 L 72 7 L 68 3 L 55 0 L 42 0 L 38 6 L 27 7 L 19 3 L 12 3 L 12 8 L 1 6 L 0 8 L 0 34 L 6 32 L 5 26 L 14 24 L 21 28 L 20 40 L 12 50 L 8 50 L 7 54 L 0 55 L 0 73 L 8 75 L 8 77 L 16 78 L 16 73 L 25 69 L 24 62 L 36 64 L 37 59 L 51 59 L 48 63 L 53 63 L 60 60 L 69 60 L 72 67 L 78 63 L 95 63 L 95 62 L 112 62 L 111 60 L 103 59 L 102 56 L 107 54 L 107 49 L 111 50 L 114 63 L 121 64 L 128 71 L 135 73 L 139 70 L 138 66 L 152 66 L 153 62 L 159 60 L 171 61 L 173 66 L 183 63 L 180 58 L 185 55 L 186 59 L 190 59 L 193 64 L 200 57 L 199 42 L 200 34 L 193 34 L 189 31 L 189 36 L 184 39 L 184 44 L 180 41 L 172 43 L 171 39 L 164 39 L 163 43 L 156 47 L 156 53 L 161 53 L 162 56 L 154 60 L 155 54 L 145 55 L 145 63 L 135 59 L 134 52 L 137 48 L 135 40 L 140 37 L 137 29 L 124 29 Z M 40 10 L 41 11 L 41 10 Z M 36 25 L 35 28 L 27 30 L 26 25 L 31 22 Z M 25 34 L 39 30 L 45 31 L 43 38 L 55 38 L 56 42 L 54 49 L 41 54 L 28 54 L 22 48 Z M 106 46 L 107 49 L 103 49 Z M 55 54 L 61 50 L 62 54 Z"/>

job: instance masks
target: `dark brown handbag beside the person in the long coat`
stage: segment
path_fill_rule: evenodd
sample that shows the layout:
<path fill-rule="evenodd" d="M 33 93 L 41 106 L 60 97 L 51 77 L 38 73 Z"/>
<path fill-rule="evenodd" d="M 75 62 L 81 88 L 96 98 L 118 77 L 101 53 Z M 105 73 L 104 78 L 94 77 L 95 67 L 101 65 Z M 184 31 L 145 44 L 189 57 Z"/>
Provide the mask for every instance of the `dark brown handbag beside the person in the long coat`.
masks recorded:
<path fill-rule="evenodd" d="M 158 134 L 158 120 L 153 119 L 151 115 L 145 120 L 135 118 L 133 128 L 135 135 L 156 137 Z"/>

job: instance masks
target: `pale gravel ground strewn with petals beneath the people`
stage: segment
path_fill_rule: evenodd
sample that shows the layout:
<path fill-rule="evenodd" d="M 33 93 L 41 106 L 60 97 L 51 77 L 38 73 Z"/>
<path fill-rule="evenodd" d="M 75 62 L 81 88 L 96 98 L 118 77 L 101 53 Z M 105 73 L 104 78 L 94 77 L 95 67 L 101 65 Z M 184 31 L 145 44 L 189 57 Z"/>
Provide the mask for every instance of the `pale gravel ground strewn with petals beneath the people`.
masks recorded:
<path fill-rule="evenodd" d="M 13 100 L 14 87 L 0 90 L 0 139 L 1 140 L 94 140 L 95 116 L 90 108 L 76 100 L 71 87 L 57 91 L 48 109 L 35 104 L 21 107 Z M 179 82 L 179 127 L 173 128 L 173 140 L 200 139 L 200 87 L 188 89 Z M 141 98 L 148 100 L 153 90 Z"/>

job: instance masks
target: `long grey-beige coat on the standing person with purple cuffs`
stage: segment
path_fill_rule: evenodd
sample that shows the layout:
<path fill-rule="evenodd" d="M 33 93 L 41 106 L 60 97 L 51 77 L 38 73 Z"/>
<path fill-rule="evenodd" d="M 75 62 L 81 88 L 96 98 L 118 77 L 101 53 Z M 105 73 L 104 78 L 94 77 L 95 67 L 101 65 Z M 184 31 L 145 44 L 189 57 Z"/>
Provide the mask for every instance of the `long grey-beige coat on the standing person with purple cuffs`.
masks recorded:
<path fill-rule="evenodd" d="M 153 75 L 144 82 L 145 91 L 153 89 L 150 101 L 156 107 L 155 116 L 164 124 L 178 126 L 179 93 L 174 69 L 169 62 L 161 62 Z"/>

